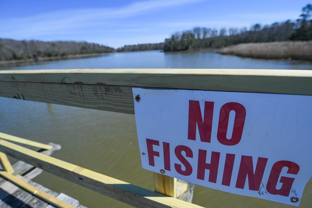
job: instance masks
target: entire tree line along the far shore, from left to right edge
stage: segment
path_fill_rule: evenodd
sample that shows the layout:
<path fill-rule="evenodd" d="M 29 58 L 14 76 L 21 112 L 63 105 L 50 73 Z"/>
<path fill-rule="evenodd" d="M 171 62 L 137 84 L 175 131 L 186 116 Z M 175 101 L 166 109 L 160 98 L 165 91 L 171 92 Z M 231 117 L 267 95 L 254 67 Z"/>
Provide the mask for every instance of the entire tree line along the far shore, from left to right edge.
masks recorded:
<path fill-rule="evenodd" d="M 38 59 L 39 57 L 66 57 L 68 55 L 164 50 L 165 52 L 221 48 L 239 43 L 307 41 L 312 40 L 312 5 L 302 8 L 296 21 L 275 22 L 271 25 L 255 24 L 247 27 L 221 28 L 194 27 L 192 30 L 176 32 L 163 43 L 125 45 L 118 49 L 95 43 L 73 41 L 16 41 L 0 38 L 0 61 Z"/>

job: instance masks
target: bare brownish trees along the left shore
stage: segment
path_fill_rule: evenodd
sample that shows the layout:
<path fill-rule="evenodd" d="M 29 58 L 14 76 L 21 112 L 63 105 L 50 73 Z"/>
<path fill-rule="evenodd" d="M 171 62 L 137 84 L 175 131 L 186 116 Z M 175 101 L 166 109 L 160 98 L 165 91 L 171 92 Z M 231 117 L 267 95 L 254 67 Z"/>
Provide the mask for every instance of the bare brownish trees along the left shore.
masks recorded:
<path fill-rule="evenodd" d="M 66 57 L 68 55 L 113 52 L 112 47 L 96 43 L 73 41 L 17 41 L 0 39 L 0 61 L 38 59 L 39 57 Z"/>

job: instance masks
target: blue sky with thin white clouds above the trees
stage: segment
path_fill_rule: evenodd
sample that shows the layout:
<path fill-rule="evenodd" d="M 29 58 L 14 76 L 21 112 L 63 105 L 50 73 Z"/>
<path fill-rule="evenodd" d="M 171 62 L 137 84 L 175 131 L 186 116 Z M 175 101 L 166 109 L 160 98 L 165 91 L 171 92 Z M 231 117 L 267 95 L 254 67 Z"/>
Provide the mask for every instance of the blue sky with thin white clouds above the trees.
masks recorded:
<path fill-rule="evenodd" d="M 306 0 L 0 0 L 0 37 L 87 41 L 111 47 L 163 42 L 193 27 L 295 20 Z"/>

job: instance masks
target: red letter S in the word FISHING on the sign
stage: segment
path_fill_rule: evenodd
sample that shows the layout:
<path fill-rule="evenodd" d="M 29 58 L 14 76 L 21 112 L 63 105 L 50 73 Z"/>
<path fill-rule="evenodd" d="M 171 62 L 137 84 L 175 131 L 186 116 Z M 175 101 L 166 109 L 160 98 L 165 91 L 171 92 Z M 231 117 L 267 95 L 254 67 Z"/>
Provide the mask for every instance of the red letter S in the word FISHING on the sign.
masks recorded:
<path fill-rule="evenodd" d="M 177 163 L 174 163 L 174 168 L 179 174 L 183 176 L 189 176 L 192 174 L 193 168 L 191 164 L 182 155 L 182 151 L 185 152 L 185 156 L 193 158 L 193 152 L 189 147 L 184 145 L 176 146 L 176 148 L 174 149 L 174 153 L 177 156 L 178 160 L 182 162 L 182 164 L 185 166 L 185 171 L 182 171 L 181 165 Z"/>

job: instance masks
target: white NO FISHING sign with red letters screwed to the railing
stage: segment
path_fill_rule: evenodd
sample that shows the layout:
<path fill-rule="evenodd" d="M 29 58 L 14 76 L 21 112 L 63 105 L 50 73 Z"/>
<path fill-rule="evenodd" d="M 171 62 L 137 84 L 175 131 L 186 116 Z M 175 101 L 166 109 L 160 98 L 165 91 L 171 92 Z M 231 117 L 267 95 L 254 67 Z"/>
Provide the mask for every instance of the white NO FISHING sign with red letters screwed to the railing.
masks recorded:
<path fill-rule="evenodd" d="M 312 96 L 132 91 L 144 169 L 299 206 L 312 175 Z"/>

